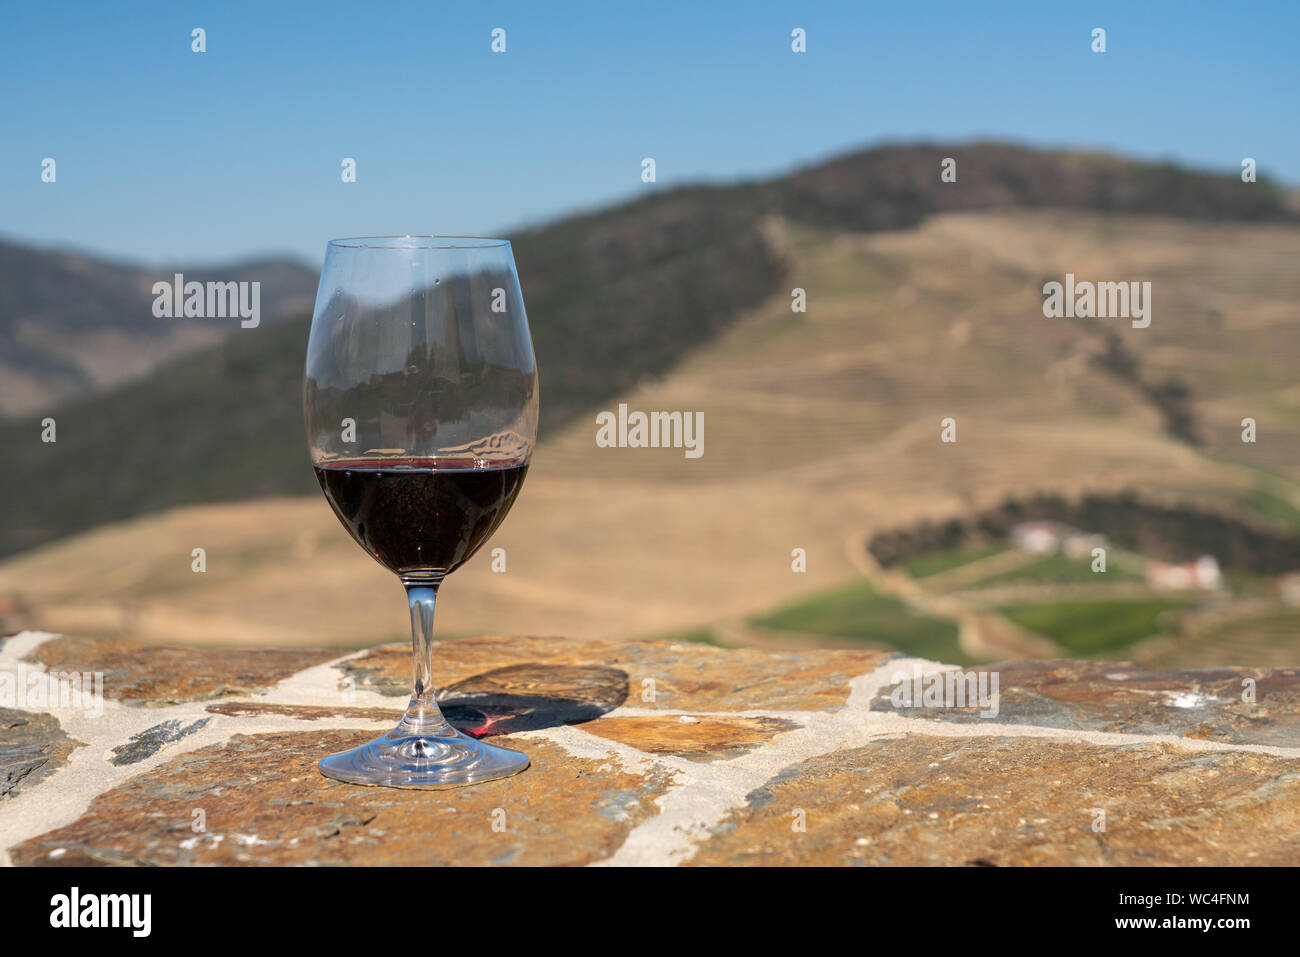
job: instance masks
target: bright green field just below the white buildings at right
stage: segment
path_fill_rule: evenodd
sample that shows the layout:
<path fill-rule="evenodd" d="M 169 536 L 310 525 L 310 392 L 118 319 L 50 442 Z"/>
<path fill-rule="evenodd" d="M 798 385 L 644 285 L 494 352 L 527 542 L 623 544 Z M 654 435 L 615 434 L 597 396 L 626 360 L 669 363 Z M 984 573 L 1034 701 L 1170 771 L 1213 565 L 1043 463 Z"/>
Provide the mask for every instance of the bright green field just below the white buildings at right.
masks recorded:
<path fill-rule="evenodd" d="M 1187 605 L 1178 598 L 1080 599 L 1013 605 L 998 611 L 1022 628 L 1052 638 L 1069 654 L 1089 657 L 1167 631 L 1166 612 Z"/>

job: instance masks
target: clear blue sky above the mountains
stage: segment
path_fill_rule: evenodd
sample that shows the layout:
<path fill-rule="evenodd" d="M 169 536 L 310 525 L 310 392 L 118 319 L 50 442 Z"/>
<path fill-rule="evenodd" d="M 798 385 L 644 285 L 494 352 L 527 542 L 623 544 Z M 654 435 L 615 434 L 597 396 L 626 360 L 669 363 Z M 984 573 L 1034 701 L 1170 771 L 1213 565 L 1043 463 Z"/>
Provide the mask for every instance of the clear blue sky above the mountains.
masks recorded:
<path fill-rule="evenodd" d="M 51 1 L 3 21 L 0 234 L 153 264 L 500 234 L 887 140 L 1253 156 L 1300 183 L 1297 3 Z"/>

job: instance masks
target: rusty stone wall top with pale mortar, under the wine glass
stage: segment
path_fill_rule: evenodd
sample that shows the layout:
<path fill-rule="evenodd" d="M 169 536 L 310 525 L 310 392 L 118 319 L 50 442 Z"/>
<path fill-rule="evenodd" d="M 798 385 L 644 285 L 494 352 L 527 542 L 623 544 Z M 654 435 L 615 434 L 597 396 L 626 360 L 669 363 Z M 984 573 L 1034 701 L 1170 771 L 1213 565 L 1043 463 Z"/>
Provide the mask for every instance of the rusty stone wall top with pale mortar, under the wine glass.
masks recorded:
<path fill-rule="evenodd" d="M 472 638 L 445 711 L 532 767 L 421 792 L 316 770 L 393 726 L 406 646 L 0 641 L 16 865 L 1300 863 L 1300 670 L 993 664 L 992 714 L 878 651 Z"/>

